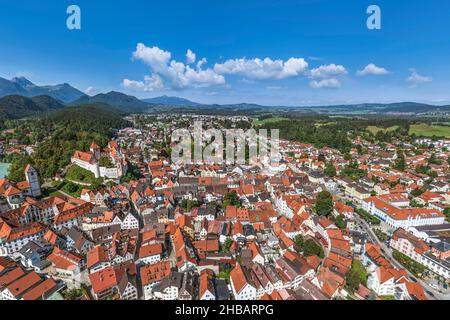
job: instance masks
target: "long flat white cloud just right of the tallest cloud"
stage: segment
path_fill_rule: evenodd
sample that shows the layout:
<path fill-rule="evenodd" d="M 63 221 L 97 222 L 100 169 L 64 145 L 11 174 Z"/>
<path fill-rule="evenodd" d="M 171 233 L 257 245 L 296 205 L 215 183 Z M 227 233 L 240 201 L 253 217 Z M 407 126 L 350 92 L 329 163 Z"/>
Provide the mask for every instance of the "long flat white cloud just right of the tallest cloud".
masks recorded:
<path fill-rule="evenodd" d="M 271 58 L 230 59 L 224 63 L 216 63 L 214 71 L 218 74 L 241 75 L 248 79 L 285 79 L 296 77 L 308 68 L 303 58 L 290 58 L 287 61 Z"/>

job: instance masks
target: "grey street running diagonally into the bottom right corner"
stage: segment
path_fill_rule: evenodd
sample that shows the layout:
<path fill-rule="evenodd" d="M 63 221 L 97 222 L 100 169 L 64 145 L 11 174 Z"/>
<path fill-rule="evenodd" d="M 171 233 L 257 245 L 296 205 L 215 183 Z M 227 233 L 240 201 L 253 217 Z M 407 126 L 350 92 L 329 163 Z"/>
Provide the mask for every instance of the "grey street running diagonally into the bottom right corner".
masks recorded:
<path fill-rule="evenodd" d="M 391 249 L 388 248 L 388 246 L 386 246 L 385 243 L 378 240 L 377 236 L 375 235 L 375 233 L 373 232 L 373 230 L 369 226 L 369 224 L 365 220 L 361 219 L 357 214 L 355 214 L 354 216 L 355 216 L 355 220 L 356 220 L 357 224 L 359 226 L 361 226 L 363 228 L 363 230 L 366 232 L 366 234 L 369 236 L 370 241 L 372 241 L 373 243 L 376 243 L 380 246 L 384 257 L 386 257 L 394 267 L 405 269 L 406 272 L 408 273 L 408 278 L 410 281 L 414 281 L 414 279 L 417 280 L 417 282 L 419 282 L 422 285 L 422 287 L 425 289 L 425 294 L 428 296 L 428 298 L 430 300 L 450 300 L 450 293 L 443 294 L 443 293 L 439 292 L 438 290 L 430 287 L 430 285 L 427 282 L 418 279 L 411 272 L 409 272 L 406 268 L 404 268 L 400 263 L 398 263 L 397 260 L 395 260 L 394 257 L 392 256 Z M 431 292 L 433 295 L 428 294 L 427 291 Z"/>

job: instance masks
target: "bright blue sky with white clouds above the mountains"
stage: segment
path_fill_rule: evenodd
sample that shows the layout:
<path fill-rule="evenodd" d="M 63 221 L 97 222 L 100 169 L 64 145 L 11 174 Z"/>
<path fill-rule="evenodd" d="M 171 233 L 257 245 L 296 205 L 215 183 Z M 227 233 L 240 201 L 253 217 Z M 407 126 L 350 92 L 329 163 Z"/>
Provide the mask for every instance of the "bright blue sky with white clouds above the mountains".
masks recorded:
<path fill-rule="evenodd" d="M 81 30 L 66 28 L 71 4 L 81 8 Z M 381 8 L 381 30 L 366 27 L 371 4 Z M 447 0 L 0 5 L 1 77 L 205 103 L 450 103 Z"/>

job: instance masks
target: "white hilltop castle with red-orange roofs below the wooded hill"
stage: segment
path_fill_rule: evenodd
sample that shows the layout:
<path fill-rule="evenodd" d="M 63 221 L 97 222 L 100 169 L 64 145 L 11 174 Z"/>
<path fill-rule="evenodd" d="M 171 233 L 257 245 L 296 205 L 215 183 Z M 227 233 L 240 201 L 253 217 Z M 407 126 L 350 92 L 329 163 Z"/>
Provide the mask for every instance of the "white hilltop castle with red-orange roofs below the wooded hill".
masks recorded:
<path fill-rule="evenodd" d="M 99 160 L 102 157 L 111 160 L 112 166 L 100 166 Z M 92 172 L 96 178 L 119 179 L 127 172 L 127 162 L 121 154 L 116 141 L 110 141 L 108 148 L 104 151 L 93 142 L 89 148 L 89 152 L 75 151 L 71 162 Z"/>

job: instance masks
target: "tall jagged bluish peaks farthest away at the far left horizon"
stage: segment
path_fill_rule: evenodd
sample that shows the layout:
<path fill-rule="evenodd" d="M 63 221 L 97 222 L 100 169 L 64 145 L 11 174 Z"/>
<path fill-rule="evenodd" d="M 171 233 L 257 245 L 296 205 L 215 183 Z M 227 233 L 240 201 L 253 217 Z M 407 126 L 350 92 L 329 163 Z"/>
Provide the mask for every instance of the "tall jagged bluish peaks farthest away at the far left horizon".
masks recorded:
<path fill-rule="evenodd" d="M 72 87 L 68 83 L 38 86 L 25 77 L 16 77 L 11 80 L 0 78 L 0 97 L 9 95 L 20 95 L 25 97 L 46 95 L 64 103 L 86 96 L 86 94 Z"/>

